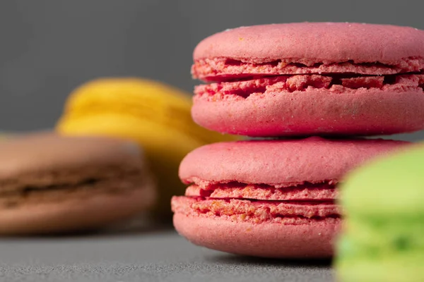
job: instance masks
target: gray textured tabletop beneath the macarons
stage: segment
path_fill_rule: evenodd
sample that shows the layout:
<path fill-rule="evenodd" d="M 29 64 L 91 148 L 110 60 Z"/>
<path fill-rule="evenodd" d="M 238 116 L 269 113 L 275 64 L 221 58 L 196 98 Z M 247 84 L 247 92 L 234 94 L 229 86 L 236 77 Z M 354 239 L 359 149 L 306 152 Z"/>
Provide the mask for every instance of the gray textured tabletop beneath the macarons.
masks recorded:
<path fill-rule="evenodd" d="M 0 240 L 0 281 L 331 281 L 329 262 L 237 257 L 173 231 Z"/>

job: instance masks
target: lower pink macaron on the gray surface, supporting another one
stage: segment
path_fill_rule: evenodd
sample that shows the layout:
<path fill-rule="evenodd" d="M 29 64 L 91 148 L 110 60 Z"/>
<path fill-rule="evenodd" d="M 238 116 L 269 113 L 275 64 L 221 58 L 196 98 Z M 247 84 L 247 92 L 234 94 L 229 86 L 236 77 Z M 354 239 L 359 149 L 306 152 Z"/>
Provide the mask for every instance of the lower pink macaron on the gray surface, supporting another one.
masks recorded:
<path fill-rule="evenodd" d="M 408 142 L 251 140 L 195 149 L 172 198 L 177 231 L 196 245 L 258 257 L 330 257 L 346 172 Z"/>

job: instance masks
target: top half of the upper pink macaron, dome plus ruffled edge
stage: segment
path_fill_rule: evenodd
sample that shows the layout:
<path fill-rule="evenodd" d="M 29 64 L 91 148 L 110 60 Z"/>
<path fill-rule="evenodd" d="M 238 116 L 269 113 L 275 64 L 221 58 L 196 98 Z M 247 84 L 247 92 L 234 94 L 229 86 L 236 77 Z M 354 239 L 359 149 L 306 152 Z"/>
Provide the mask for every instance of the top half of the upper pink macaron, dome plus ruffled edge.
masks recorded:
<path fill-rule="evenodd" d="M 283 23 L 218 32 L 194 49 L 194 78 L 240 73 L 390 74 L 424 68 L 424 31 L 365 23 Z M 343 65 L 334 65 L 343 63 Z"/>

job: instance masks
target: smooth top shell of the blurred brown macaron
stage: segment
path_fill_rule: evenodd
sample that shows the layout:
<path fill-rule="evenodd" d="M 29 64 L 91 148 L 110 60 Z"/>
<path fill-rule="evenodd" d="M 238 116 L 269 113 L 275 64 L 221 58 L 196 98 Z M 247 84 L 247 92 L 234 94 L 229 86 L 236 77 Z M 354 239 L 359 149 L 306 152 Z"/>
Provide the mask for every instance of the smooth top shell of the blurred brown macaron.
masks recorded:
<path fill-rule="evenodd" d="M 138 168 L 143 151 L 133 142 L 104 137 L 61 137 L 52 132 L 30 133 L 8 138 L 0 145 L 0 185 L 7 178 L 25 174 L 81 171 L 81 166 Z M 82 177 L 81 174 L 81 177 Z M 77 176 L 78 178 L 78 176 Z M 1 190 L 1 187 L 0 187 Z"/>

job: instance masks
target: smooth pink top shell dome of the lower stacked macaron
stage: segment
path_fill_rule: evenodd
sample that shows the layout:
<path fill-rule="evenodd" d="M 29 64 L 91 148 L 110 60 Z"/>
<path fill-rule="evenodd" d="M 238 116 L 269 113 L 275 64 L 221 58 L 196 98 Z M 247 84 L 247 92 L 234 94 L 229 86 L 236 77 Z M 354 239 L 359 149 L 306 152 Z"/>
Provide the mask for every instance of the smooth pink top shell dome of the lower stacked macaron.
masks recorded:
<path fill-rule="evenodd" d="M 184 183 L 256 183 L 276 188 L 338 180 L 372 156 L 408 142 L 391 140 L 251 140 L 199 147 L 179 166 Z"/>

